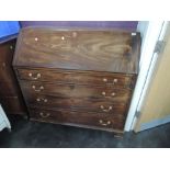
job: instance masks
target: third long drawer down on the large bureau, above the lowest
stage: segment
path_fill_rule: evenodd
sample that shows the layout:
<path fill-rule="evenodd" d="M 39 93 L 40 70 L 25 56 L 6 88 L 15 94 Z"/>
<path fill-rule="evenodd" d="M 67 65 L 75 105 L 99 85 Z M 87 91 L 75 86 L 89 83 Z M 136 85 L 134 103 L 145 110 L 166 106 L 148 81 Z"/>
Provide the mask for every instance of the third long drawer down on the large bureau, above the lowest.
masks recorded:
<path fill-rule="evenodd" d="M 87 99 L 87 98 L 56 98 L 49 95 L 32 95 L 25 97 L 29 105 L 36 105 L 53 109 L 70 109 L 84 110 L 91 112 L 101 112 L 109 114 L 125 114 L 127 104 L 114 103 L 104 99 Z"/>

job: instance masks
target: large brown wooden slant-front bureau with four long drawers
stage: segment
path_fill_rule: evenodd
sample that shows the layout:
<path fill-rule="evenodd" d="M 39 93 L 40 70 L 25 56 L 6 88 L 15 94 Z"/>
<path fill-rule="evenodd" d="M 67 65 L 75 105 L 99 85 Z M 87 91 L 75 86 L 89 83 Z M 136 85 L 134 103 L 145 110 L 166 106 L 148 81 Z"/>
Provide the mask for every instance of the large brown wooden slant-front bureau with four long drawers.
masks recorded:
<path fill-rule="evenodd" d="M 30 118 L 123 133 L 139 52 L 136 32 L 23 29 L 13 67 Z"/>

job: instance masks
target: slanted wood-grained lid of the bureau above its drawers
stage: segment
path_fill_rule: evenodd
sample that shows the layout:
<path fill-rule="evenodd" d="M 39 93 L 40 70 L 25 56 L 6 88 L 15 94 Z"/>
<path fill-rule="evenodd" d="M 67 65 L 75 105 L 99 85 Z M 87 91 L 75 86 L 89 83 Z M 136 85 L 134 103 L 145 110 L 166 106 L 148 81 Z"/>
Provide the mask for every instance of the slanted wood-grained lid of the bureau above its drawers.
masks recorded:
<path fill-rule="evenodd" d="M 26 27 L 14 66 L 137 73 L 139 33 L 113 30 Z"/>

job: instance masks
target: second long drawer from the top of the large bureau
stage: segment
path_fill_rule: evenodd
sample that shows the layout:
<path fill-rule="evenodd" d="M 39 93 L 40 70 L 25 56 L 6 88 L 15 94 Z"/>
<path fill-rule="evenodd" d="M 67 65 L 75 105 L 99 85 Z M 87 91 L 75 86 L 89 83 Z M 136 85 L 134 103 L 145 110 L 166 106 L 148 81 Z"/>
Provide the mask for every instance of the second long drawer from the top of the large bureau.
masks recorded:
<path fill-rule="evenodd" d="M 128 89 L 90 87 L 79 84 L 42 83 L 36 81 L 21 81 L 21 87 L 26 95 L 47 94 L 60 98 L 100 98 L 115 102 L 127 102 L 132 91 Z"/>

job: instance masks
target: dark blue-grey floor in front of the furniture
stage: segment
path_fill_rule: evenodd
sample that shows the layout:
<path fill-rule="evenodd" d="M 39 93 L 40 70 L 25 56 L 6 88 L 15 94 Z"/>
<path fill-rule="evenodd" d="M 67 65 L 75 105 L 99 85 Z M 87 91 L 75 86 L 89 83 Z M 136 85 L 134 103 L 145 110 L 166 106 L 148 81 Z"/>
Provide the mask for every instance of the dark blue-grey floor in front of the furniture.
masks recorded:
<path fill-rule="evenodd" d="M 134 148 L 170 147 L 170 124 L 138 134 L 125 133 L 116 138 L 112 133 L 12 117 L 12 132 L 0 132 L 1 148 Z"/>

